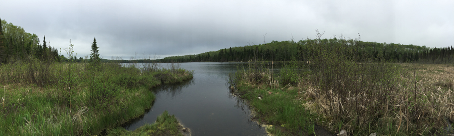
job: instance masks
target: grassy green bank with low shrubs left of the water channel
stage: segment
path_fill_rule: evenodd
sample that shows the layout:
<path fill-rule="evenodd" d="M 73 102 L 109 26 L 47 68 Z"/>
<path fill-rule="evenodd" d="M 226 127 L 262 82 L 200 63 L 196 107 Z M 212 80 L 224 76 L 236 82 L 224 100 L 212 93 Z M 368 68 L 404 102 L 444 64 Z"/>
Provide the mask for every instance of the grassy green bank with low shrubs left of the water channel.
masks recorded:
<path fill-rule="evenodd" d="M 0 66 L 0 135 L 93 135 L 150 108 L 151 88 L 192 78 L 174 65 L 15 61 Z"/>

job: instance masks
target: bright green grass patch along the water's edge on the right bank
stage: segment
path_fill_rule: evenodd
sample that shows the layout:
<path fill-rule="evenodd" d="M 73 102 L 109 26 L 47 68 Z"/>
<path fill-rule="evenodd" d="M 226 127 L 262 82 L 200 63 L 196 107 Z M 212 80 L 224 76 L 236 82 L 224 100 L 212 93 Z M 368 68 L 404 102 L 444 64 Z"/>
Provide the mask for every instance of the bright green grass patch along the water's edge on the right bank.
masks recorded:
<path fill-rule="evenodd" d="M 263 87 L 263 86 L 262 86 Z M 313 133 L 317 115 L 310 113 L 296 99 L 295 89 L 261 88 L 240 82 L 235 93 L 248 100 L 260 123 L 273 125 L 268 129 L 275 135 L 307 135 Z M 261 99 L 259 99 L 260 97 Z"/>

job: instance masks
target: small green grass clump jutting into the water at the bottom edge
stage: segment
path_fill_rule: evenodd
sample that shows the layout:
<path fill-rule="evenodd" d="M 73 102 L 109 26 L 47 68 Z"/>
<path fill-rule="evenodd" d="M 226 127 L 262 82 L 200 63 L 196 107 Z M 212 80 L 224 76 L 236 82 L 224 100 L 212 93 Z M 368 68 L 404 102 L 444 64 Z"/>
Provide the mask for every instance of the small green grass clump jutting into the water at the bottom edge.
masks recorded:
<path fill-rule="evenodd" d="M 175 118 L 175 115 L 169 115 L 164 111 L 152 124 L 145 124 L 134 131 L 128 131 L 123 127 L 109 129 L 107 135 L 183 135 L 180 129 L 183 129 Z"/>

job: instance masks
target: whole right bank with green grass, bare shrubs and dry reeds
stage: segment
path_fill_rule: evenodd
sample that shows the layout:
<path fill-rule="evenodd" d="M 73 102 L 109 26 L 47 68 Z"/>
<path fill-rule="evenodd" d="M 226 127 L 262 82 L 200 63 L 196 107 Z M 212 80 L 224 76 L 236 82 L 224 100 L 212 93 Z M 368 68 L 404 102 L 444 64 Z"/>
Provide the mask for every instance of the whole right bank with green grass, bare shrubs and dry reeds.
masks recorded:
<path fill-rule="evenodd" d="M 320 135 L 314 128 L 321 125 L 353 135 L 452 133 L 452 66 L 368 58 L 349 48 L 359 39 L 326 43 L 321 36 L 317 31 L 307 43 L 307 61 L 288 63 L 279 74 L 259 57 L 230 74 L 232 93 L 250 102 L 259 122 L 273 125 L 268 131 Z"/>

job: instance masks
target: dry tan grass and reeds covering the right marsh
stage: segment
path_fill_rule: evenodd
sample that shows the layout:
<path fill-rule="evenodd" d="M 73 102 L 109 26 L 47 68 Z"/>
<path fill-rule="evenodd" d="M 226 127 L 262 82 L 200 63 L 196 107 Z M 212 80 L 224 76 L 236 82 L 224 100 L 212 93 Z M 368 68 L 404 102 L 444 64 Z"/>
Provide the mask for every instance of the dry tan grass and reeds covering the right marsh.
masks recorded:
<path fill-rule="evenodd" d="M 303 104 L 306 108 L 326 118 L 324 125 L 331 131 L 338 131 L 339 127 L 351 134 L 377 130 L 380 134 L 391 134 L 389 131 L 392 131 L 392 135 L 445 131 L 448 123 L 454 122 L 454 66 L 395 65 L 403 68 L 399 72 L 401 81 L 388 87 L 387 95 L 380 94 L 383 93 L 382 86 L 377 86 L 376 90 L 365 88 L 357 94 L 336 94 L 338 90 L 322 91 L 317 85 L 303 81 L 298 87 L 302 94 L 299 99 L 307 101 Z M 386 128 L 390 124 L 392 128 Z M 365 128 L 371 125 L 373 130 Z"/>

